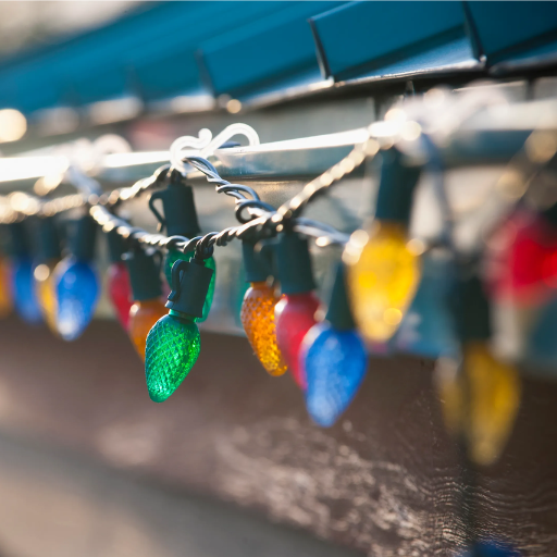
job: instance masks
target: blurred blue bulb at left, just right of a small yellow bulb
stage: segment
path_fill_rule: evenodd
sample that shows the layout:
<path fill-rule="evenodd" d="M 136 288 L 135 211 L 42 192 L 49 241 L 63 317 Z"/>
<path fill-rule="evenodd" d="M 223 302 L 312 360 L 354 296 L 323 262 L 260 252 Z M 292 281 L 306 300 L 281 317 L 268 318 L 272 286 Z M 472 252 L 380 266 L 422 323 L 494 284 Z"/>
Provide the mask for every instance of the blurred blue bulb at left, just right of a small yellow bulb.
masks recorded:
<path fill-rule="evenodd" d="M 92 319 L 99 296 L 99 280 L 89 262 L 72 256 L 60 261 L 54 275 L 58 331 L 64 341 L 74 341 Z"/>

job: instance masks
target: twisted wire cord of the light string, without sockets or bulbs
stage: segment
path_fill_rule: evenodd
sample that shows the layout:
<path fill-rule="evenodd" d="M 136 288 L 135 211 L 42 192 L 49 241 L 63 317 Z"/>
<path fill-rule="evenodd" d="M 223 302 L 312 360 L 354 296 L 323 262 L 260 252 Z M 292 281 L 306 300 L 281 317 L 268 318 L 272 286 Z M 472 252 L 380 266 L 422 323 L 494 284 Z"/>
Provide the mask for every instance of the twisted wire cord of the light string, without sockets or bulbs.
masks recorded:
<path fill-rule="evenodd" d="M 176 172 L 171 164 L 160 166 L 152 175 L 137 181 L 133 186 L 106 194 L 100 194 L 97 181 L 81 173 L 77 169 L 72 169 L 70 177 L 81 193 L 47 201 L 21 194 L 26 197 L 28 202 L 18 203 L 17 210 L 2 211 L 0 222 L 14 222 L 30 215 L 54 216 L 71 209 L 88 207 L 91 216 L 106 232 L 115 230 L 117 234 L 128 240 L 136 240 L 154 248 L 172 247 L 184 252 L 195 250 L 196 257 L 199 259 L 210 257 L 213 246 L 225 246 L 234 238 L 259 240 L 273 237 L 283 230 L 293 230 L 305 236 L 313 237 L 317 239 L 318 246 L 344 245 L 348 242 L 347 234 L 343 234 L 327 224 L 301 218 L 300 213 L 307 205 L 352 172 L 367 158 L 373 157 L 377 150 L 379 144 L 373 139 L 357 145 L 342 161 L 307 184 L 298 195 L 277 210 L 262 201 L 253 188 L 224 180 L 207 159 L 199 156 L 185 157 L 184 163 L 205 174 L 208 182 L 215 184 L 216 193 L 228 195 L 236 200 L 235 214 L 239 222 L 237 226 L 230 226 L 220 232 L 210 232 L 195 238 L 169 237 L 163 234 L 149 233 L 132 226 L 126 220 L 115 214 L 115 210 L 121 203 L 163 185 L 171 173 Z"/>

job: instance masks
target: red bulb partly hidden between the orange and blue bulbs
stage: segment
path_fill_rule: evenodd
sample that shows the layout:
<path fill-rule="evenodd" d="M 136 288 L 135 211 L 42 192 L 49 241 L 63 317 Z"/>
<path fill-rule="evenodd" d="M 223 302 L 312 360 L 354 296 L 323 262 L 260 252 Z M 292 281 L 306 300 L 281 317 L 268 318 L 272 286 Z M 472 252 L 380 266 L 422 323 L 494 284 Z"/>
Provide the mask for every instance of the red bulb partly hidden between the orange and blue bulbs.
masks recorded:
<path fill-rule="evenodd" d="M 317 323 L 319 299 L 312 292 L 285 294 L 275 306 L 276 344 L 300 388 L 306 389 L 306 372 L 299 352 L 307 332 Z"/>

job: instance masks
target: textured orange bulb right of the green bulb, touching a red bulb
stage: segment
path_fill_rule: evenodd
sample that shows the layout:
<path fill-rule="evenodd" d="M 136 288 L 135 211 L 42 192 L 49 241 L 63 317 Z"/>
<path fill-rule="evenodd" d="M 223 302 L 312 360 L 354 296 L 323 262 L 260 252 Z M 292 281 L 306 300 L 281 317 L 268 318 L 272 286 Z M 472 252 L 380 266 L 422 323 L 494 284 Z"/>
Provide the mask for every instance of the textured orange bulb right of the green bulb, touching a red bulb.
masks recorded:
<path fill-rule="evenodd" d="M 276 344 L 274 307 L 280 298 L 265 282 L 251 283 L 244 296 L 240 320 L 249 344 L 271 375 L 282 375 L 287 367 Z"/>

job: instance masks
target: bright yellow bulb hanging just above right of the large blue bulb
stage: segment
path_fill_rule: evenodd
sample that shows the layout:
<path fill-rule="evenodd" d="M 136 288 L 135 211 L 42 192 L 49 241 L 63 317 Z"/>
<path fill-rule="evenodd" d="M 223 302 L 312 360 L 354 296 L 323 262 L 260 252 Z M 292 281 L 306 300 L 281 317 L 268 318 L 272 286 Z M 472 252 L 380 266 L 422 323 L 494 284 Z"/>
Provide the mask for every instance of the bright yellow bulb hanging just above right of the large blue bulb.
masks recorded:
<path fill-rule="evenodd" d="M 419 240 L 406 226 L 375 222 L 352 234 L 343 255 L 354 318 L 369 341 L 388 341 L 398 329 L 420 280 Z"/>

